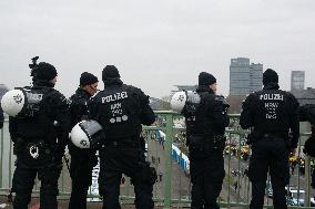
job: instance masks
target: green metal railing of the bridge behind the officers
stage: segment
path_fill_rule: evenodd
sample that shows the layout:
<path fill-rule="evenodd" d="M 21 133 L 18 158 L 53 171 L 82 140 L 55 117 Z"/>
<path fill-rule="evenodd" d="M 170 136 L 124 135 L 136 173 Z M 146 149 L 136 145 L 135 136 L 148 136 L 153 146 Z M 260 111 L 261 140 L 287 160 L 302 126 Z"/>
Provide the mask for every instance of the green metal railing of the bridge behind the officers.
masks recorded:
<path fill-rule="evenodd" d="M 159 116 L 155 126 L 143 127 L 149 149 L 146 157 L 158 170 L 159 176 L 153 189 L 155 205 L 163 206 L 165 209 L 174 206 L 189 207 L 191 202 L 191 182 L 189 161 L 186 159 L 185 129 L 174 126 L 174 119 L 181 121 L 183 118 L 171 111 L 160 111 L 155 113 Z M 240 129 L 240 126 L 237 126 L 238 117 L 240 115 L 231 115 L 231 122 L 234 126 L 226 130 L 227 140 L 224 149 L 226 176 L 219 198 L 220 205 L 225 208 L 248 208 L 251 200 L 251 182 L 245 174 L 251 149 L 244 144 L 248 132 Z M 292 205 L 297 205 L 289 206 L 289 208 L 311 208 L 311 197 L 315 195 L 309 186 L 309 174 L 313 165 L 311 165 L 311 159 L 307 156 L 303 156 L 302 151 L 302 147 L 308 135 L 309 134 L 301 135 L 296 154 L 298 159 L 296 165 L 297 169 L 293 170 L 288 187 L 293 188 L 292 186 L 296 186 L 297 194 L 295 200 L 303 199 L 304 202 L 296 203 L 293 201 L 293 198 L 288 198 L 288 201 L 292 200 Z M 305 159 L 304 168 L 303 158 Z M 16 157 L 12 155 L 12 143 L 9 137 L 8 122 L 6 121 L 4 127 L 1 129 L 0 138 L 0 195 L 8 194 L 11 188 L 14 160 Z M 59 198 L 68 199 L 71 192 L 71 178 L 65 166 L 63 166 L 59 179 Z M 38 181 L 33 191 L 34 195 L 39 194 Z M 92 192 L 92 188 L 90 191 L 89 198 L 99 200 L 99 196 Z M 268 197 L 271 192 L 270 187 L 267 187 L 265 208 L 272 208 L 272 198 Z M 128 177 L 124 177 L 124 181 L 121 185 L 120 200 L 121 202 L 132 202 L 134 200 L 133 186 Z"/>

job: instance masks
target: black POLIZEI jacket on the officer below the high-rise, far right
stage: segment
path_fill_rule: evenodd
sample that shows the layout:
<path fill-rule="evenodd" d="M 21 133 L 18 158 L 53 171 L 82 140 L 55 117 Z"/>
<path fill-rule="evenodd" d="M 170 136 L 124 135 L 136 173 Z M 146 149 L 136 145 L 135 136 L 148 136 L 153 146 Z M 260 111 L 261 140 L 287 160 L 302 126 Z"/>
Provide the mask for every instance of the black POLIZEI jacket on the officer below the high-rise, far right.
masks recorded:
<path fill-rule="evenodd" d="M 297 147 L 299 136 L 298 102 L 288 92 L 270 83 L 262 91 L 250 94 L 243 103 L 240 124 L 254 127 L 258 138 L 264 134 L 287 137 L 292 133 L 291 147 Z"/>

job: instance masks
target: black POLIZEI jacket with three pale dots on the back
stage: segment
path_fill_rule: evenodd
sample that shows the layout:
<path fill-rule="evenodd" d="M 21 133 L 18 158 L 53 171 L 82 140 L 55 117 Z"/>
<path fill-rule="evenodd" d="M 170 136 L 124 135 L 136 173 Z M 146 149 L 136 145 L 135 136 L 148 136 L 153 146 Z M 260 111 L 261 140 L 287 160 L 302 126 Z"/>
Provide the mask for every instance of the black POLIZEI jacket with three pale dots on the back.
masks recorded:
<path fill-rule="evenodd" d="M 139 136 L 141 124 L 151 125 L 155 121 L 149 96 L 140 88 L 119 79 L 104 84 L 104 90 L 89 101 L 89 109 L 91 118 L 103 126 L 106 138 Z"/>

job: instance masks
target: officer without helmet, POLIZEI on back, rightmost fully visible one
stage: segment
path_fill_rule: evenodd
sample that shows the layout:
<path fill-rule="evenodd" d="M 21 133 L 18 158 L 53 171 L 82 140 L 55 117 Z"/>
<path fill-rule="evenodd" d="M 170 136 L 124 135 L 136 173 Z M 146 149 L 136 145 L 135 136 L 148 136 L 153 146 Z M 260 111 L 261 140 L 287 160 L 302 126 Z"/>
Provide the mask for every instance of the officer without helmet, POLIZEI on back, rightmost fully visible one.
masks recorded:
<path fill-rule="evenodd" d="M 248 178 L 252 181 L 251 209 L 261 209 L 270 171 L 275 209 L 286 209 L 285 186 L 289 180 L 288 155 L 295 153 L 299 136 L 298 102 L 280 90 L 278 75 L 268 69 L 263 74 L 264 87 L 243 103 L 240 124 L 251 128 L 252 144 Z"/>

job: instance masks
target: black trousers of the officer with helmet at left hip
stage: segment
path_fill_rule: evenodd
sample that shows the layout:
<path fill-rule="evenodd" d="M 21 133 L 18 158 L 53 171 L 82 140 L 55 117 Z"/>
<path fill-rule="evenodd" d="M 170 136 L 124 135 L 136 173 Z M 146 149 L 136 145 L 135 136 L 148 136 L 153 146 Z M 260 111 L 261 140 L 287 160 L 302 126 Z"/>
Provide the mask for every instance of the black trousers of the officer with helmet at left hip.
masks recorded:
<path fill-rule="evenodd" d="M 120 209 L 119 196 L 122 174 L 131 177 L 135 192 L 135 208 L 153 209 L 153 181 L 149 166 L 144 166 L 143 150 L 106 146 L 100 150 L 99 190 L 103 209 Z"/>

